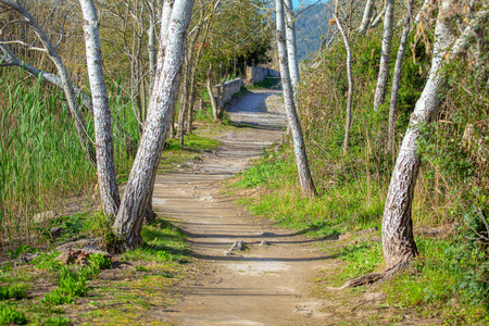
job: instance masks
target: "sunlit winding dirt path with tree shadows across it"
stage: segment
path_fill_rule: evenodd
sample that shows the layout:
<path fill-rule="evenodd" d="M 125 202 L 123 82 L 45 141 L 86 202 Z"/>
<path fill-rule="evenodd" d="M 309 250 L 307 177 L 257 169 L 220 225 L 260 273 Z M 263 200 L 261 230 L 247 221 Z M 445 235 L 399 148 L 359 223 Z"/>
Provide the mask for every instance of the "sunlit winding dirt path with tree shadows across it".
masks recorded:
<path fill-rule="evenodd" d="M 277 91 L 251 92 L 230 110 L 233 122 L 252 125 L 217 137 L 223 146 L 202 164 L 156 179 L 153 203 L 190 234 L 206 275 L 168 316 L 175 325 L 324 325 L 321 301 L 308 298 L 327 256 L 290 230 L 258 224 L 233 202 L 214 196 L 220 181 L 247 166 L 277 140 L 286 118 Z M 185 167 L 185 166 L 184 166 Z M 249 250 L 224 252 L 238 240 Z M 267 240 L 272 246 L 260 246 Z"/>

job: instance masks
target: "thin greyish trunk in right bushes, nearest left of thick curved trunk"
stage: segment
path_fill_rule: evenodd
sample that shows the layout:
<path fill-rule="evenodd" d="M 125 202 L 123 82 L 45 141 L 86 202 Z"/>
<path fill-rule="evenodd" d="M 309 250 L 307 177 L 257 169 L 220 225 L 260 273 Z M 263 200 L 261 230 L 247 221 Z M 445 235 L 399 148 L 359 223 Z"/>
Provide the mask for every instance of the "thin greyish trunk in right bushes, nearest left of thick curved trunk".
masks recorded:
<path fill-rule="evenodd" d="M 411 17 L 413 15 L 413 0 L 405 1 L 406 11 L 404 16 L 404 25 L 402 27 L 401 43 L 398 50 L 398 58 L 396 59 L 394 73 L 392 77 L 392 91 L 390 96 L 389 108 L 389 125 L 387 133 L 387 152 L 393 152 L 394 145 L 394 128 L 396 128 L 396 112 L 398 110 L 398 95 L 401 82 L 402 60 L 404 58 L 405 45 L 408 43 L 408 36 L 411 30 Z"/>

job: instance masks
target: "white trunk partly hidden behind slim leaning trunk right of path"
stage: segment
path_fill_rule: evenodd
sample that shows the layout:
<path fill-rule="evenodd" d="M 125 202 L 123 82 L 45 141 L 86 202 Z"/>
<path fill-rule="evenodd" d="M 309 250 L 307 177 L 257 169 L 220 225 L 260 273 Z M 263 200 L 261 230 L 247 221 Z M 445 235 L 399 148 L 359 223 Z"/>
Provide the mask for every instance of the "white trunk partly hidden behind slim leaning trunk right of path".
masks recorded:
<path fill-rule="evenodd" d="M 296 43 L 296 17 L 293 15 L 292 0 L 285 0 L 286 17 L 287 17 L 287 57 L 289 60 L 290 82 L 292 83 L 293 93 L 296 95 L 300 82 L 299 60 L 297 57 Z"/>

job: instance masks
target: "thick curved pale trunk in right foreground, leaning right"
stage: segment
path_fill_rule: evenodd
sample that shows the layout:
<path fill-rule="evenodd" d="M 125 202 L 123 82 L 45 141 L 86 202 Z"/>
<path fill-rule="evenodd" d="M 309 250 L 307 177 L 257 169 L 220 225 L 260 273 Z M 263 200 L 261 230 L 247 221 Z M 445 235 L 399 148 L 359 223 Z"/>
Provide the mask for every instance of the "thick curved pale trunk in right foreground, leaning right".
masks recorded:
<path fill-rule="evenodd" d="M 421 126 L 430 123 L 439 110 L 439 92 L 444 79 L 440 68 L 453 40 L 450 4 L 451 0 L 441 2 L 435 28 L 429 77 L 411 114 L 410 126 L 404 135 L 387 193 L 383 218 L 383 251 L 388 271 L 402 268 L 417 254 L 411 215 L 421 164 L 417 141 Z"/>

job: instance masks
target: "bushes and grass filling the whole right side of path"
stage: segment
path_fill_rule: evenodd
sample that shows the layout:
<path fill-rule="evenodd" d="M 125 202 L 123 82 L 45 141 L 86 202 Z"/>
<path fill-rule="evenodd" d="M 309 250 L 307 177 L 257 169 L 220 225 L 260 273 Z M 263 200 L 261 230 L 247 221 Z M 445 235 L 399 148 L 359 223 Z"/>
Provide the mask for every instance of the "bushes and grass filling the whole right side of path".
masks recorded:
<path fill-rule="evenodd" d="M 394 35 L 393 45 L 399 45 L 399 37 Z M 427 78 L 431 37 L 417 34 L 409 40 L 397 112 L 397 149 Z M 478 41 L 487 45 L 487 34 Z M 344 45 L 337 39 L 313 68 L 302 66 L 298 102 L 318 197 L 304 199 L 299 191 L 291 146 L 278 154 L 271 152 L 236 184 L 266 189 L 260 198 L 243 201 L 253 213 L 324 239 L 355 237 L 356 231 L 374 226 L 380 229 L 396 161 L 397 151 L 386 152 L 389 101 L 377 112 L 373 110 L 381 30 L 367 36 L 353 32 L 350 45 L 354 100 L 347 155 L 341 152 L 348 93 Z M 396 61 L 394 49 L 391 62 Z M 422 167 L 413 204 L 419 256 L 384 286 L 390 303 L 419 313 L 427 305 L 434 310 L 424 313 L 454 323 L 485 323 L 489 308 L 488 59 L 487 53 L 476 59 L 467 55 L 450 62 L 442 72 L 448 76 L 442 110 L 422 130 Z M 476 60 L 486 62 L 484 68 Z M 393 66 L 390 75 L 392 71 Z M 349 263 L 342 281 L 384 269 L 381 246 L 375 238 L 348 244 L 338 255 Z"/>

